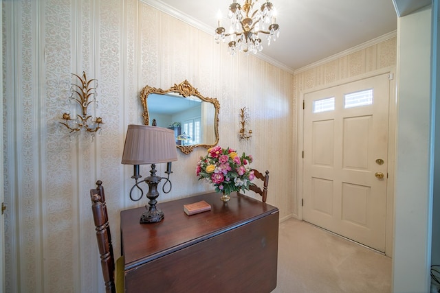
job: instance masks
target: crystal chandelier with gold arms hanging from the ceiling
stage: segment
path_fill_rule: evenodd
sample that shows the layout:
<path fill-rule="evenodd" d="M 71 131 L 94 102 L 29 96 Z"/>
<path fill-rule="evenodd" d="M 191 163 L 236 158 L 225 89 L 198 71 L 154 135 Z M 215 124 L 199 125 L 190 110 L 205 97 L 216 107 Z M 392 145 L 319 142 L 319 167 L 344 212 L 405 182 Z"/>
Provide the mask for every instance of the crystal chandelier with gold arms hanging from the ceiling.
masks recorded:
<path fill-rule="evenodd" d="M 236 3 L 236 0 L 229 6 L 228 18 L 231 20 L 230 32 L 226 33 L 225 28 L 221 26 L 215 30 L 215 40 L 217 43 L 225 41 L 230 36 L 228 43 L 231 55 L 237 51 L 252 52 L 263 50 L 259 34 L 267 34 L 267 44 L 274 41 L 280 34 L 279 26 L 274 16 L 274 5 L 271 2 L 265 2 L 259 6 L 259 0 L 245 0 L 243 6 Z"/>

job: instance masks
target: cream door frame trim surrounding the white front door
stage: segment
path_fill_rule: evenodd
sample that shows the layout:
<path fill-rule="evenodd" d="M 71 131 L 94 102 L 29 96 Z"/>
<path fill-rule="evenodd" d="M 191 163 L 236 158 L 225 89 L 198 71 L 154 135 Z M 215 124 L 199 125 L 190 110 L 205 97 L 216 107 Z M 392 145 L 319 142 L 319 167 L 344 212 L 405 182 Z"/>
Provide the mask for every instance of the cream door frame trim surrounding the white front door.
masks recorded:
<path fill-rule="evenodd" d="M 390 78 L 390 88 L 389 88 L 389 101 L 388 101 L 388 184 L 386 187 L 386 235 L 385 235 L 385 255 L 391 257 L 393 255 L 393 227 L 394 227 L 394 185 L 395 185 L 395 147 L 396 147 L 396 123 L 397 123 L 397 96 L 396 96 L 396 78 L 395 78 L 395 67 L 386 67 L 384 69 L 371 71 L 369 73 L 364 73 L 362 75 L 357 75 L 352 78 L 345 78 L 343 80 L 338 80 L 337 82 L 332 82 L 330 84 L 325 84 L 322 86 L 316 86 L 313 89 L 307 89 L 305 91 L 300 91 L 298 96 L 298 107 L 297 107 L 297 141 L 298 154 L 296 154 L 298 159 L 298 164 L 296 166 L 296 194 L 297 198 L 297 215 L 295 218 L 298 220 L 303 220 L 303 205 L 301 204 L 303 200 L 303 150 L 304 150 L 304 96 L 307 93 L 314 91 L 320 91 L 323 89 L 328 89 L 333 86 L 340 86 L 342 84 L 347 84 L 351 82 L 356 82 L 358 80 L 364 80 L 366 78 L 373 78 L 377 75 L 382 75 L 388 73 Z"/>

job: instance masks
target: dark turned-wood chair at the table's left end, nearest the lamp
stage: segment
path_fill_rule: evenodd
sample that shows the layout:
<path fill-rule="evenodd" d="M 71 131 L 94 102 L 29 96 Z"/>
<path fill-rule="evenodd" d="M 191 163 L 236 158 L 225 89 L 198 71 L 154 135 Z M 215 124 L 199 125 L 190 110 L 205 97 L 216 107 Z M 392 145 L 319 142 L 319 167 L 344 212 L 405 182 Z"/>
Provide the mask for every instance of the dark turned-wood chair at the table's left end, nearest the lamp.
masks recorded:
<path fill-rule="evenodd" d="M 90 189 L 91 212 L 96 226 L 96 240 L 101 257 L 105 292 L 124 292 L 124 258 L 120 257 L 115 263 L 104 187 L 102 187 L 101 180 L 96 181 L 96 185 L 96 189 Z"/>

